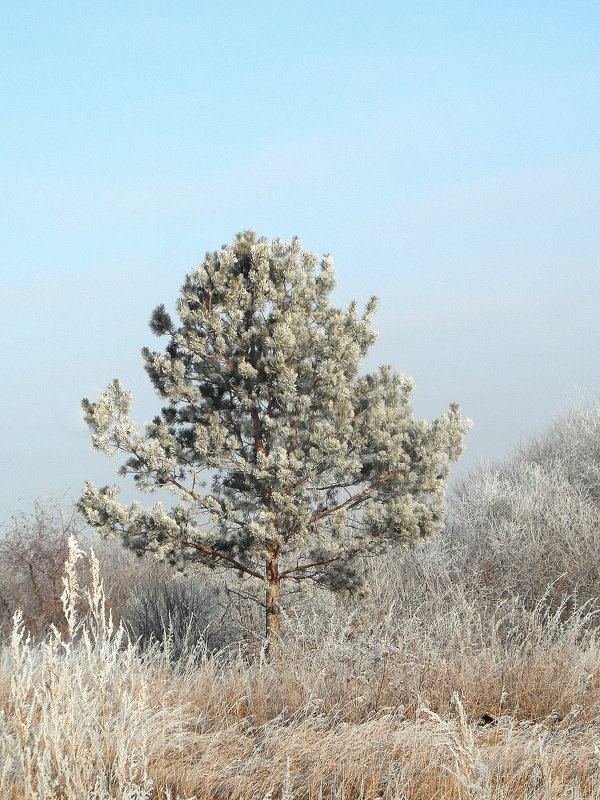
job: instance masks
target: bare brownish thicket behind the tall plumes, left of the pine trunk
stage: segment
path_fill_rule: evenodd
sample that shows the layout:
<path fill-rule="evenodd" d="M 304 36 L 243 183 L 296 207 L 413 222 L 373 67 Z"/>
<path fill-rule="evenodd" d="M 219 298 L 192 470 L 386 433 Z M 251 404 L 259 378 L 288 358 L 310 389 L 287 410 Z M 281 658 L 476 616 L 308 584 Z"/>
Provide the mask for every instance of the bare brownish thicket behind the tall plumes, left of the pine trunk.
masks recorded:
<path fill-rule="evenodd" d="M 16 512 L 0 538 L 0 635 L 12 630 L 17 609 L 34 639 L 52 625 L 64 626 L 62 575 L 70 536 L 97 552 L 107 608 L 142 646 L 166 646 L 168 640 L 171 657 L 178 658 L 184 650 L 210 651 L 242 638 L 247 615 L 232 606 L 218 578 L 175 577 L 153 556 L 140 558 L 99 539 L 72 507 L 50 500 L 37 501 L 31 513 Z M 87 585 L 89 576 L 81 580 Z"/>

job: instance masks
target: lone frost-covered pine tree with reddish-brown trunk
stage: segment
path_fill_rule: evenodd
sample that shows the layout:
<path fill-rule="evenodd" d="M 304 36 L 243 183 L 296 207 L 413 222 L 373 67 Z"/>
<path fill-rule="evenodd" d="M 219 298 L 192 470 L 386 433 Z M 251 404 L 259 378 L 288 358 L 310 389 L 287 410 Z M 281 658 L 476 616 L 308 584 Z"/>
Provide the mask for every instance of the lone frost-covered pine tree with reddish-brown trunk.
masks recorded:
<path fill-rule="evenodd" d="M 334 308 L 334 283 L 331 259 L 319 264 L 298 239 L 241 233 L 186 277 L 178 325 L 164 306 L 152 315 L 168 340 L 143 350 L 161 415 L 141 432 L 118 380 L 83 401 L 93 446 L 126 453 L 120 473 L 141 491 L 177 498 L 148 509 L 86 483 L 87 521 L 180 569 L 260 582 L 267 639 L 284 593 L 360 589 L 361 556 L 438 530 L 468 427 L 456 405 L 415 419 L 412 383 L 390 367 L 360 375 L 375 300 L 362 315 Z"/>

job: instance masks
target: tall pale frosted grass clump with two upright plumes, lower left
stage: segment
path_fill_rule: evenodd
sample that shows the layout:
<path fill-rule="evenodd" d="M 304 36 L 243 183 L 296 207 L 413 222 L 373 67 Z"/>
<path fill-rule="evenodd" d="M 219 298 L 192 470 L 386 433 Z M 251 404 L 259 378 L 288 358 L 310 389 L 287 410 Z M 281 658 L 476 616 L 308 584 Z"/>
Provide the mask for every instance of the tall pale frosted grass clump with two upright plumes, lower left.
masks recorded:
<path fill-rule="evenodd" d="M 87 614 L 71 542 L 63 594 L 66 633 L 32 643 L 15 615 L 2 653 L 0 797 L 142 800 L 153 762 L 174 763 L 187 746 L 189 712 L 172 675 L 141 656 L 112 624 L 90 561 Z"/>

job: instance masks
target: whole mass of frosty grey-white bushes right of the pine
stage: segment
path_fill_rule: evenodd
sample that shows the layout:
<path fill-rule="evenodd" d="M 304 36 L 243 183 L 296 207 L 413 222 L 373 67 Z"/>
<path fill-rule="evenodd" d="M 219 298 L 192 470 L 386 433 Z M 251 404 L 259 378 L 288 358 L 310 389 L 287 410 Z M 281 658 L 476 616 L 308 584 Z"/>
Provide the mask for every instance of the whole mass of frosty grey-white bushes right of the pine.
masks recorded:
<path fill-rule="evenodd" d="M 529 609 L 562 605 L 563 616 L 600 607 L 599 448 L 596 404 L 565 414 L 505 463 L 482 465 L 450 492 L 439 536 L 372 563 L 378 603 L 432 620 L 463 603 L 488 618 L 513 598 Z"/>

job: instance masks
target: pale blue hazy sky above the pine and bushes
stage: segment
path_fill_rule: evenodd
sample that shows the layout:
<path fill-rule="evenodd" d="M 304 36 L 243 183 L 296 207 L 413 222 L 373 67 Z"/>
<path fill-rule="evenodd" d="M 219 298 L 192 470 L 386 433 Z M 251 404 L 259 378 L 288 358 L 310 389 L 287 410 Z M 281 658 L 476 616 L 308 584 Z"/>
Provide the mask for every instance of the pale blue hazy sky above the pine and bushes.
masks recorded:
<path fill-rule="evenodd" d="M 81 398 L 118 377 L 157 413 L 150 314 L 241 230 L 331 253 L 339 305 L 380 298 L 365 369 L 474 422 L 451 485 L 598 399 L 595 0 L 0 14 L 0 522 L 123 484 Z"/>

